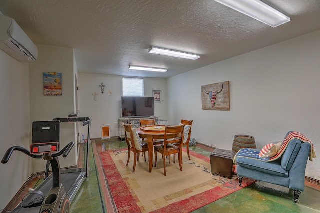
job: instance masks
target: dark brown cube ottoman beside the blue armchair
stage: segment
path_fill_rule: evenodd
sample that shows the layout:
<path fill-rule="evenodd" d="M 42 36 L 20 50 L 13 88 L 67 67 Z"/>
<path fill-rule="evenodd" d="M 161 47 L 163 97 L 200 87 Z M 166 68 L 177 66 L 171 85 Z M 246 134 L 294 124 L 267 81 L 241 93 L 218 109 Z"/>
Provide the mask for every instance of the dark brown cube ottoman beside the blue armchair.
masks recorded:
<path fill-rule="evenodd" d="M 212 174 L 218 174 L 232 178 L 232 161 L 234 155 L 235 151 L 233 150 L 215 149 L 210 154 Z"/>

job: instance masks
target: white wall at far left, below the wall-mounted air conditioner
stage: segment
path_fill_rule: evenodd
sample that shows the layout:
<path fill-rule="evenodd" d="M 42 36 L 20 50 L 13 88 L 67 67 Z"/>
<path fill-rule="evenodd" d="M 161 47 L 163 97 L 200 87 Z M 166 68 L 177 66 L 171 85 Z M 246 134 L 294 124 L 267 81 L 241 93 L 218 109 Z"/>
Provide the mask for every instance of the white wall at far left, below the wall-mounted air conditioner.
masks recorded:
<path fill-rule="evenodd" d="M 0 158 L 11 146 L 29 147 L 29 66 L 0 49 Z M 14 151 L 7 164 L 0 164 L 0 209 L 4 208 L 31 175 L 31 159 Z"/>

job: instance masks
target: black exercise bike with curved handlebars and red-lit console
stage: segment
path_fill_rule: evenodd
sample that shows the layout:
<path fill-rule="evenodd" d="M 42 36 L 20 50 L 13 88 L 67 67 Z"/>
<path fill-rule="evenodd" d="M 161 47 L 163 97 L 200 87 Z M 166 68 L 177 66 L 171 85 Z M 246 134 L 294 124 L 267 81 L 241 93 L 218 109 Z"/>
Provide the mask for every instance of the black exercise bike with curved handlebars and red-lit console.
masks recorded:
<path fill-rule="evenodd" d="M 74 142 L 68 143 L 59 151 L 59 125 L 59 121 L 33 122 L 31 151 L 24 147 L 13 146 L 6 151 L 1 160 L 1 163 L 7 163 L 12 152 L 17 150 L 32 158 L 43 158 L 50 162 L 52 167 L 52 188 L 49 193 L 44 196 L 43 193 L 41 195 L 41 192 L 38 192 L 40 197 L 25 201 L 24 204 L 22 200 L 22 206 L 24 207 L 41 205 L 39 213 L 70 212 L 69 196 L 60 181 L 60 164 L 57 157 L 60 155 L 66 157 L 74 146 Z"/>

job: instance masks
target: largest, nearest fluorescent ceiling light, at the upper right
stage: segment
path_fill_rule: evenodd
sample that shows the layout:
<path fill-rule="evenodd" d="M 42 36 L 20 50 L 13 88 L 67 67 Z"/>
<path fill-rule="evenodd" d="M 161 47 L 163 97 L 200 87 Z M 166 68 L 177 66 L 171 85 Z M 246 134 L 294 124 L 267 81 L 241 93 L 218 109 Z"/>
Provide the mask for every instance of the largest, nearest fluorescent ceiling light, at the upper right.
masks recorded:
<path fill-rule="evenodd" d="M 290 18 L 260 0 L 214 0 L 231 9 L 272 27 L 290 21 Z"/>

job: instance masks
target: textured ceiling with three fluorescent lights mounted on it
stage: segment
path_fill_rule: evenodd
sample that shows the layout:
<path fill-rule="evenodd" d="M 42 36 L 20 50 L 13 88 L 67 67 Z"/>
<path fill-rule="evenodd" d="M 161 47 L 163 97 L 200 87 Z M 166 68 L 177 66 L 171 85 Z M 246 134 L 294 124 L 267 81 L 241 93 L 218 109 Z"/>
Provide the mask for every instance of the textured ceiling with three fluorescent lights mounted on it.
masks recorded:
<path fill-rule="evenodd" d="M 263 1 L 291 21 L 272 28 L 213 0 L 0 0 L 0 11 L 33 42 L 74 48 L 79 72 L 167 78 L 320 29 L 320 0 Z M 150 46 L 200 58 L 149 54 Z"/>

